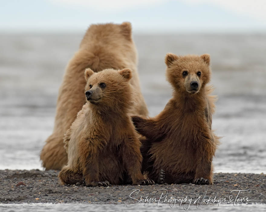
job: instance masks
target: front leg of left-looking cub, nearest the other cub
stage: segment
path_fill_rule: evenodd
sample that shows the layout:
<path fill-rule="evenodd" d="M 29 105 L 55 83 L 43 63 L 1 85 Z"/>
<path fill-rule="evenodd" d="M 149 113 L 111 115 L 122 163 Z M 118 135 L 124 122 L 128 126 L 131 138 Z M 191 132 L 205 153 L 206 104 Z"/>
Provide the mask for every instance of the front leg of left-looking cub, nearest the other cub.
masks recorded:
<path fill-rule="evenodd" d="M 152 185 L 152 180 L 145 179 L 141 173 L 142 156 L 140 152 L 140 142 L 135 136 L 130 136 L 125 140 L 119 152 L 122 156 L 128 175 L 132 179 L 132 185 Z"/>

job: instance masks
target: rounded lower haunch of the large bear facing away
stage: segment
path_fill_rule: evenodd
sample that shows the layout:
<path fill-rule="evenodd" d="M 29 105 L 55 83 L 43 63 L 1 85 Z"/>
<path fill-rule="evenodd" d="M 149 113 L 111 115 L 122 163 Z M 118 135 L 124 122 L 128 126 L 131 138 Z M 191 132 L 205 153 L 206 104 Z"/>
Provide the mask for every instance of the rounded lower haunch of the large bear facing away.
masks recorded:
<path fill-rule="evenodd" d="M 52 134 L 41 151 L 41 161 L 45 170 L 60 170 L 67 164 L 67 154 L 63 144 L 64 135 Z"/>

